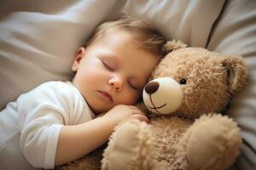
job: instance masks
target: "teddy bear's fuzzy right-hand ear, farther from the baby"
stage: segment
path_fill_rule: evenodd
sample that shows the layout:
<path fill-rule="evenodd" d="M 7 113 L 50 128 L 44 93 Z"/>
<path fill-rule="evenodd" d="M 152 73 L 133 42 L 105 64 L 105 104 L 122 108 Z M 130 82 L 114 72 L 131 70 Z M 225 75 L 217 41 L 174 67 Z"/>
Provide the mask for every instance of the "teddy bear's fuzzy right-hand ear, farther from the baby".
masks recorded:
<path fill-rule="evenodd" d="M 224 55 L 222 65 L 227 71 L 230 94 L 236 94 L 247 84 L 247 66 L 241 56 Z"/>

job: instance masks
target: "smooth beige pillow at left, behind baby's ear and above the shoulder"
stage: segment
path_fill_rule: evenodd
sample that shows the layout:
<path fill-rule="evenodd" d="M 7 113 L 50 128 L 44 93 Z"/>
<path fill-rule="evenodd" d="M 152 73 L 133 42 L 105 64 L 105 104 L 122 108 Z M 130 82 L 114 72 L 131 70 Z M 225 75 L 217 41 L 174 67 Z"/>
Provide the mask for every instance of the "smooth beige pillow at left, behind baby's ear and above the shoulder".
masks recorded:
<path fill-rule="evenodd" d="M 1 4 L 1 3 L 0 3 Z M 71 78 L 74 54 L 125 1 L 4 1 L 0 5 L 0 110 L 49 80 Z"/>

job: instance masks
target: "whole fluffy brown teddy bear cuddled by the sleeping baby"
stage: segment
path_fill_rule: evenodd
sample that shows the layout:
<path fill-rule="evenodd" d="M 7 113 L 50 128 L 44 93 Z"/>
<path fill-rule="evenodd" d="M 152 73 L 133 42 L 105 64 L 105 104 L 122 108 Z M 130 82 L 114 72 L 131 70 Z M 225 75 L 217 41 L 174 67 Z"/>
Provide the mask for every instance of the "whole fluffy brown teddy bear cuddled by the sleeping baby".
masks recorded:
<path fill-rule="evenodd" d="M 224 110 L 247 83 L 244 60 L 179 41 L 166 50 L 138 105 L 150 123 L 115 127 L 103 170 L 218 170 L 236 161 L 240 128 Z"/>

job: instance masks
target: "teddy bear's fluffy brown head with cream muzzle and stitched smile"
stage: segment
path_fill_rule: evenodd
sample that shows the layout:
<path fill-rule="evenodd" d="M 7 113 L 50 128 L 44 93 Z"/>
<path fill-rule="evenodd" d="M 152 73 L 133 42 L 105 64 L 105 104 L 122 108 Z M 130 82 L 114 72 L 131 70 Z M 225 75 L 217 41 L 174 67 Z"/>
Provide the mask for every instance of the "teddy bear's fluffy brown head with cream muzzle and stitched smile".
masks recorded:
<path fill-rule="evenodd" d="M 244 88 L 246 79 L 241 56 L 177 48 L 155 68 L 143 90 L 143 101 L 154 114 L 196 118 L 223 111 L 231 96 Z"/>

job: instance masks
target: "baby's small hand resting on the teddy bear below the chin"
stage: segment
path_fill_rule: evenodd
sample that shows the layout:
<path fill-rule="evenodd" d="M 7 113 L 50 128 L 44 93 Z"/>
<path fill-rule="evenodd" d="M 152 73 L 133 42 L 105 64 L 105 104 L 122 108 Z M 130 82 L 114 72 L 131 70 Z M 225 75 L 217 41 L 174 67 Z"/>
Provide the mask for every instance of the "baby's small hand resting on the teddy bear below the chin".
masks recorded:
<path fill-rule="evenodd" d="M 143 112 L 133 105 L 116 105 L 108 111 L 104 117 L 115 124 L 131 118 L 135 118 L 143 122 L 149 122 L 148 117 L 144 116 Z"/>

